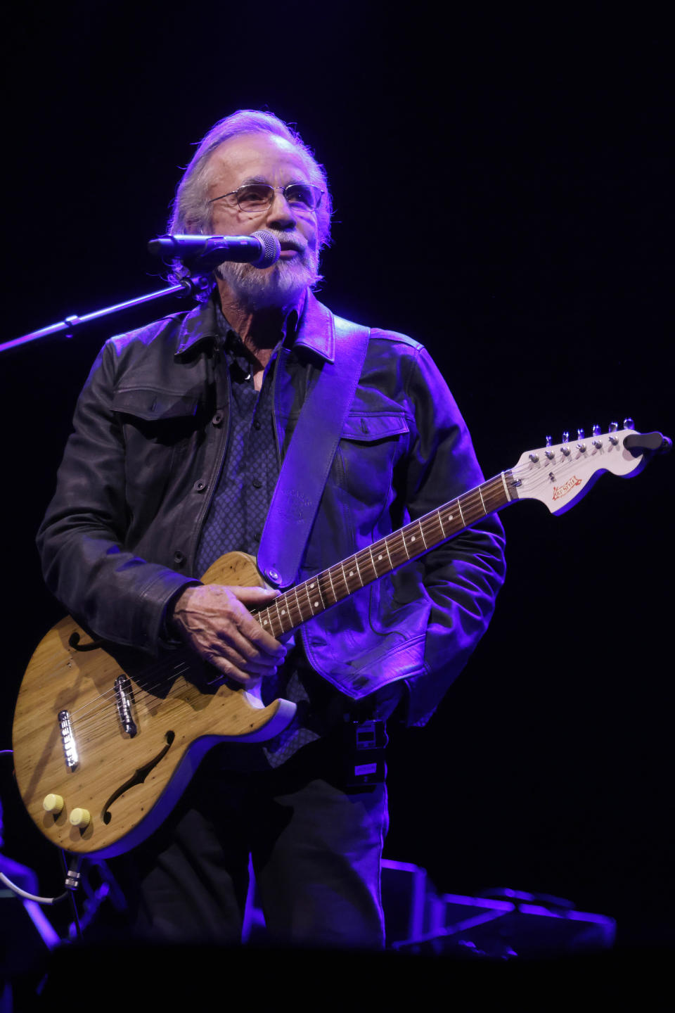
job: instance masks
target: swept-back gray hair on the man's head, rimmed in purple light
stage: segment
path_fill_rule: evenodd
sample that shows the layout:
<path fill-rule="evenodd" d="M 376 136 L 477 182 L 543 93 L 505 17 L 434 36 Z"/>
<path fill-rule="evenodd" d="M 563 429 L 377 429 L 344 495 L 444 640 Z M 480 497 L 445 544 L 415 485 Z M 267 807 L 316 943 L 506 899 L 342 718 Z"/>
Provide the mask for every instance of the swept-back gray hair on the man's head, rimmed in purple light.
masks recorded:
<path fill-rule="evenodd" d="M 333 207 L 323 165 L 317 162 L 311 149 L 292 127 L 279 120 L 273 112 L 261 112 L 258 109 L 239 109 L 232 115 L 220 120 L 204 136 L 178 183 L 167 231 L 171 235 L 184 233 L 207 235 L 210 232 L 212 213 L 210 205 L 207 203 L 208 160 L 224 141 L 239 134 L 273 134 L 290 142 L 303 153 L 310 182 L 324 191 L 317 209 L 317 227 L 320 247 L 328 246 L 331 239 Z M 179 281 L 181 278 L 189 277 L 189 270 L 179 261 L 175 261 L 170 277 Z"/>

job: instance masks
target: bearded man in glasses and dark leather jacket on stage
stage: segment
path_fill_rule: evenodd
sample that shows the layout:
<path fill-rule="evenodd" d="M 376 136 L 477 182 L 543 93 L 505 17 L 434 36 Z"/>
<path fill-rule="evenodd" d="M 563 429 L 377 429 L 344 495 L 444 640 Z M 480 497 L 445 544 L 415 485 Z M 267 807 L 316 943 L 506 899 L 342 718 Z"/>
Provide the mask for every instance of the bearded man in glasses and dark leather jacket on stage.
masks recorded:
<path fill-rule="evenodd" d="M 351 587 L 342 567 L 348 594 L 315 614 L 308 593 L 311 616 L 292 636 L 251 612 L 278 590 L 199 579 L 231 550 L 260 560 L 268 529 L 283 541 L 270 504 L 284 481 L 305 504 L 311 476 L 325 476 L 296 574 L 313 588 L 313 576 L 483 480 L 424 347 L 316 299 L 330 218 L 326 175 L 287 125 L 240 110 L 213 128 L 178 186 L 170 231 L 264 229 L 278 259 L 222 263 L 195 309 L 106 342 L 38 534 L 49 587 L 99 637 L 162 656 L 186 643 L 229 685 L 296 705 L 268 742 L 212 749 L 162 827 L 113 863 L 132 930 L 158 940 L 238 941 L 251 856 L 272 939 L 384 945 L 385 767 L 359 765 L 357 748 L 367 735 L 384 744 L 388 719 L 428 720 L 503 580 L 494 515 L 428 554 L 415 548 L 401 568 L 378 570 L 370 552 L 373 573 Z M 342 348 L 357 335 L 351 378 Z M 315 390 L 329 392 L 319 407 Z M 338 431 L 324 459 L 326 421 Z M 288 453 L 296 432 L 300 466 Z"/>

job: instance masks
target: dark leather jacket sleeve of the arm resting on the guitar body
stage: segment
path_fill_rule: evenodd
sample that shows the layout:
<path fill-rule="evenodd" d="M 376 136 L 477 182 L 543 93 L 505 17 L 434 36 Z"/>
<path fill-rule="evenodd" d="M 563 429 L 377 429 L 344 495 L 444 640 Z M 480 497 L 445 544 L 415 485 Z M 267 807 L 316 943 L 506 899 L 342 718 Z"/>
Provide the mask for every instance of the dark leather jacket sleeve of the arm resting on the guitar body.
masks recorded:
<path fill-rule="evenodd" d="M 48 588 L 78 622 L 156 652 L 169 601 L 194 581 L 124 547 L 124 446 L 112 410 L 118 357 L 106 342 L 80 394 L 37 548 Z"/>

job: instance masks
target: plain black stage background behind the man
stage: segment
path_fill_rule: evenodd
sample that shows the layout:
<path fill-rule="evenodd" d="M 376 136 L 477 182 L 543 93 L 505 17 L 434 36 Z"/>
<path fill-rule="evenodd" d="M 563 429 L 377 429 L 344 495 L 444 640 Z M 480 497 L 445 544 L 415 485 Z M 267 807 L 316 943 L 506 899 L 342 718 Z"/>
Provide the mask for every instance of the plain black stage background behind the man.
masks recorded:
<path fill-rule="evenodd" d="M 332 181 L 323 299 L 427 344 L 486 474 L 546 434 L 625 415 L 672 436 L 665 20 L 392 9 L 100 0 L 15 15 L 0 341 L 159 287 L 146 243 L 165 230 L 178 166 L 216 120 L 266 107 L 298 123 Z M 0 747 L 62 614 L 33 536 L 77 392 L 106 336 L 180 308 L 0 360 Z M 674 462 L 605 476 L 562 518 L 533 502 L 503 515 L 509 573 L 490 631 L 390 759 L 386 854 L 439 889 L 545 891 L 615 917 L 626 945 L 672 943 Z M 10 768 L 7 852 L 57 892 L 57 856 Z"/>

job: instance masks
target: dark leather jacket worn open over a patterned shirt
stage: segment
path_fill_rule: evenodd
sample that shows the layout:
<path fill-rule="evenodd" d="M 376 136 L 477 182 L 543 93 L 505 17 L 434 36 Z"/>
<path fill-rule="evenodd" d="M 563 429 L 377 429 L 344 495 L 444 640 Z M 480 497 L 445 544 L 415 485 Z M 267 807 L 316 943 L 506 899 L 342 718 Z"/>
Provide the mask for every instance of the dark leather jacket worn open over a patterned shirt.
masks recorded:
<path fill-rule="evenodd" d="M 80 395 L 37 541 L 49 588 L 106 639 L 160 649 L 169 600 L 190 578 L 228 438 L 212 303 L 111 338 Z M 311 294 L 292 369 L 275 379 L 283 454 L 313 371 L 332 359 L 333 315 Z M 438 370 L 418 342 L 372 330 L 305 554 L 305 579 L 483 480 Z M 312 667 L 358 699 L 405 679 L 424 723 L 485 632 L 504 578 L 503 530 L 486 518 L 302 627 Z"/>

